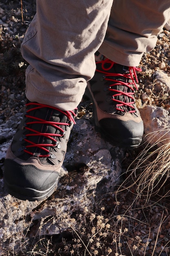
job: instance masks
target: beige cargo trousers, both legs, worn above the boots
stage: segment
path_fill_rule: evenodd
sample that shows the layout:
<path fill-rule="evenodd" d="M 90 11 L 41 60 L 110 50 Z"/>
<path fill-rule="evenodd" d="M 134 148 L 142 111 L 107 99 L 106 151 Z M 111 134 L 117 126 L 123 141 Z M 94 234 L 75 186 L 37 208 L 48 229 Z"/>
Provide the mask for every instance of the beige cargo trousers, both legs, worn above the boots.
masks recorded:
<path fill-rule="evenodd" d="M 22 43 L 26 97 L 62 110 L 82 99 L 94 53 L 138 66 L 170 18 L 170 0 L 37 0 Z"/>

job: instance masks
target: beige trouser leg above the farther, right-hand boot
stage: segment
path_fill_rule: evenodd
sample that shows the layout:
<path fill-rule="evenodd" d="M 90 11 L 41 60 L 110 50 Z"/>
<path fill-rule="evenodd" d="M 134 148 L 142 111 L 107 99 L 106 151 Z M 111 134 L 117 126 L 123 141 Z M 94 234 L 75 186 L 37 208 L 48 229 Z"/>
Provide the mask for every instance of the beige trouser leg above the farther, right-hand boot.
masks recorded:
<path fill-rule="evenodd" d="M 114 0 L 99 52 L 121 65 L 138 66 L 169 18 L 169 0 Z"/>

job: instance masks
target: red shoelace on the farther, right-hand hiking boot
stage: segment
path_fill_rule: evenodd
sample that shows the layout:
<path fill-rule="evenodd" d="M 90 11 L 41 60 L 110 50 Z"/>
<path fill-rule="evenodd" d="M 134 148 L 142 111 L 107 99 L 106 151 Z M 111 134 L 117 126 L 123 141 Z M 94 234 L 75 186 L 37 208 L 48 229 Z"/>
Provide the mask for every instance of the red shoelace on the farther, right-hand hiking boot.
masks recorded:
<path fill-rule="evenodd" d="M 119 110 L 119 111 L 123 111 L 125 112 L 124 109 L 120 108 L 121 106 L 128 106 L 131 108 L 131 110 L 129 111 L 130 113 L 132 112 L 136 112 L 135 110 L 135 107 L 133 106 L 133 104 L 135 103 L 134 101 L 134 97 L 132 96 L 134 94 L 134 89 L 133 89 L 133 85 L 135 85 L 135 88 L 138 90 L 137 88 L 137 85 L 136 85 L 136 82 L 138 83 L 138 79 L 137 79 L 137 74 L 136 74 L 136 71 L 141 71 L 141 69 L 139 67 L 128 67 L 129 68 L 129 74 L 119 74 L 119 73 L 112 73 L 112 72 L 108 72 L 108 70 L 110 70 L 114 64 L 117 64 L 111 60 L 109 60 L 108 58 L 102 60 L 102 61 L 97 61 L 96 64 L 99 64 L 101 63 L 102 64 L 102 70 L 96 70 L 97 72 L 100 72 L 100 73 L 103 73 L 105 74 L 105 77 L 104 79 L 107 80 L 107 81 L 113 81 L 114 83 L 110 85 L 110 88 L 108 90 L 112 91 L 112 92 L 116 92 L 116 94 L 113 95 L 113 98 L 112 100 L 117 102 L 116 104 L 116 109 Z M 105 64 L 110 64 L 109 67 L 105 67 L 104 65 Z M 108 76 L 122 76 L 124 78 L 127 78 L 127 79 L 131 79 L 132 82 L 123 82 L 123 81 L 118 81 L 116 79 L 111 79 L 111 78 L 108 78 Z M 114 89 L 113 87 L 114 86 L 117 86 L 117 85 L 124 85 L 128 88 L 130 88 L 130 90 L 132 92 L 123 92 L 123 91 L 120 91 L 120 90 L 117 90 L 117 89 Z M 130 102 L 124 102 L 124 101 L 120 101 L 118 99 L 115 99 L 115 97 L 119 97 L 121 95 L 124 95 L 126 97 L 129 97 L 130 99 L 132 99 L 132 101 Z"/>

